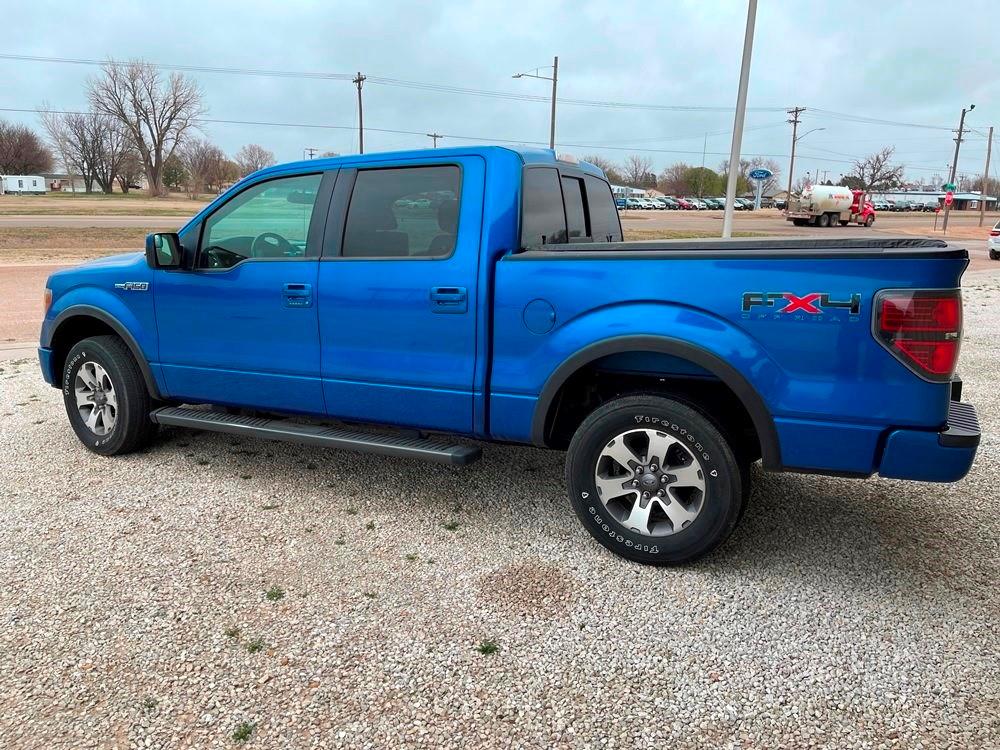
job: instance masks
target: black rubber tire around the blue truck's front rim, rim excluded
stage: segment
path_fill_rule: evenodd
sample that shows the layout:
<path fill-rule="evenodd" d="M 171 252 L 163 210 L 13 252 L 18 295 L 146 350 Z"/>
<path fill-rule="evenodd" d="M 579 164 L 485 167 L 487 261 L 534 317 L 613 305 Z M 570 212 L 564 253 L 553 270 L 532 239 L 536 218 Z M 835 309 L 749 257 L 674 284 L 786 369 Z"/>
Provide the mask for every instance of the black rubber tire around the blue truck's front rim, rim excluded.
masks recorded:
<path fill-rule="evenodd" d="M 87 423 L 77 405 L 76 377 L 87 363 L 96 363 L 105 371 L 117 401 L 114 423 L 106 434 L 97 434 Z M 156 433 L 150 421 L 152 399 L 132 352 L 117 336 L 84 339 L 69 350 L 63 367 L 63 402 L 73 431 L 80 442 L 94 453 L 117 456 L 146 445 Z"/>

